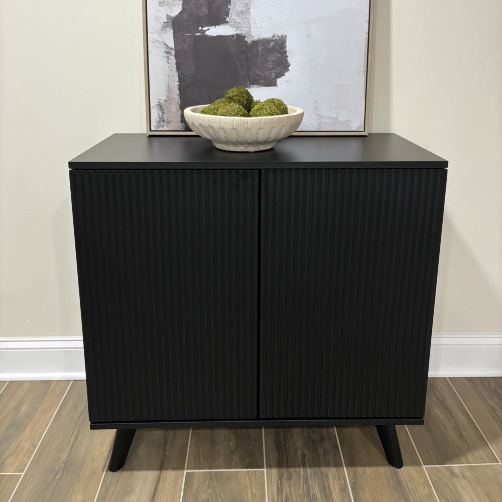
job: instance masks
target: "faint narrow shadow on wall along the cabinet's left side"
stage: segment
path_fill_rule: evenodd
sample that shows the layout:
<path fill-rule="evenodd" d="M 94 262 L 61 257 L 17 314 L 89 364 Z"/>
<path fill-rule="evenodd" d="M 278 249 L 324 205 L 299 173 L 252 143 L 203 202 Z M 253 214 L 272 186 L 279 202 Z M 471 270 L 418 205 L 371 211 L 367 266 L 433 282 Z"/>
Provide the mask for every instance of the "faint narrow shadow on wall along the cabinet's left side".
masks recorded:
<path fill-rule="evenodd" d="M 68 187 L 69 190 L 69 187 Z M 81 336 L 80 301 L 78 297 L 77 262 L 71 201 L 68 195 L 52 217 L 54 230 L 54 259 L 56 270 L 57 325 L 62 336 Z"/>

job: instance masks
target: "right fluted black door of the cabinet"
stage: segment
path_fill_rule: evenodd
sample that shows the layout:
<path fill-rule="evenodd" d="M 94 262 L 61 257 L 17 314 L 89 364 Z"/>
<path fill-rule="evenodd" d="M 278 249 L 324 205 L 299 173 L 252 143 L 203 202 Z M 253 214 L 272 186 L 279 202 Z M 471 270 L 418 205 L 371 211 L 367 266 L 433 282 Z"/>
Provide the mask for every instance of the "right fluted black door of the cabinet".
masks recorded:
<path fill-rule="evenodd" d="M 261 417 L 423 417 L 445 185 L 263 171 Z"/>

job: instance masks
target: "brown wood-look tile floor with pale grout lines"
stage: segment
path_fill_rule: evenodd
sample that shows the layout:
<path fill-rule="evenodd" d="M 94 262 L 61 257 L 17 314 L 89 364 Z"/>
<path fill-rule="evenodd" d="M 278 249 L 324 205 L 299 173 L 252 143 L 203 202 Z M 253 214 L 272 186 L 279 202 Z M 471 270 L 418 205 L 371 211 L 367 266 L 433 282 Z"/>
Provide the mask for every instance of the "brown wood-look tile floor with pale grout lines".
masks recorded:
<path fill-rule="evenodd" d="M 430 379 L 397 429 L 402 469 L 374 427 L 143 429 L 112 473 L 84 382 L 0 382 L 0 502 L 502 500 L 502 378 Z"/>

